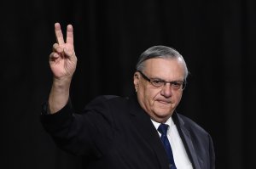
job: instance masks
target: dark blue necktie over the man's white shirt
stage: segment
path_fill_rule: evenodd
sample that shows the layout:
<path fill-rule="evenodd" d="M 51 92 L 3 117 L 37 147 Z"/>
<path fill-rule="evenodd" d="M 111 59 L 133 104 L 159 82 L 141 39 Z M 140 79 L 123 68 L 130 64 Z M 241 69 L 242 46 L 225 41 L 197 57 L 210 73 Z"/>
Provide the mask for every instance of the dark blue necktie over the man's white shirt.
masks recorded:
<path fill-rule="evenodd" d="M 168 159 L 169 159 L 169 168 L 170 169 L 177 169 L 173 160 L 173 155 L 172 155 L 172 147 L 169 143 L 169 140 L 167 138 L 166 132 L 168 129 L 168 125 L 166 124 L 160 124 L 160 126 L 158 127 L 158 131 L 161 133 L 161 141 L 164 144 L 164 147 L 166 149 L 166 153 L 168 155 Z"/>

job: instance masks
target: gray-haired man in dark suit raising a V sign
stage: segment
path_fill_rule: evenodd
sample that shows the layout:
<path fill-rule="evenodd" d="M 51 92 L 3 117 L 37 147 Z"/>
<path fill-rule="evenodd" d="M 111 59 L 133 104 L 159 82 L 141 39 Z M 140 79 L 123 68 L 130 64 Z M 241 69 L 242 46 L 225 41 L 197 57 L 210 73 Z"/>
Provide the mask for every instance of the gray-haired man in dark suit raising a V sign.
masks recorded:
<path fill-rule="evenodd" d="M 86 168 L 213 169 L 210 135 L 194 121 L 177 114 L 188 69 L 173 48 L 148 48 L 137 62 L 133 83 L 137 97 L 100 96 L 76 114 L 69 88 L 76 69 L 73 26 L 64 41 L 55 24 L 57 43 L 49 55 L 53 84 L 41 120 L 55 143 L 84 155 Z"/>

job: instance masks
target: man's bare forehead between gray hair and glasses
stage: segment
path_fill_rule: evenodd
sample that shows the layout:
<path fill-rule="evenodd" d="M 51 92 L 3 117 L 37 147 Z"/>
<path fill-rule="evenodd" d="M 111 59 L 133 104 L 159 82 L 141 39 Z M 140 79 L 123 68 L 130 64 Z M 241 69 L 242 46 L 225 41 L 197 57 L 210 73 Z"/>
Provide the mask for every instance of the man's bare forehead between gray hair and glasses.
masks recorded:
<path fill-rule="evenodd" d="M 183 80 L 185 67 L 183 59 L 148 59 L 144 63 L 144 72 L 151 77 L 159 77 L 165 80 Z"/>

